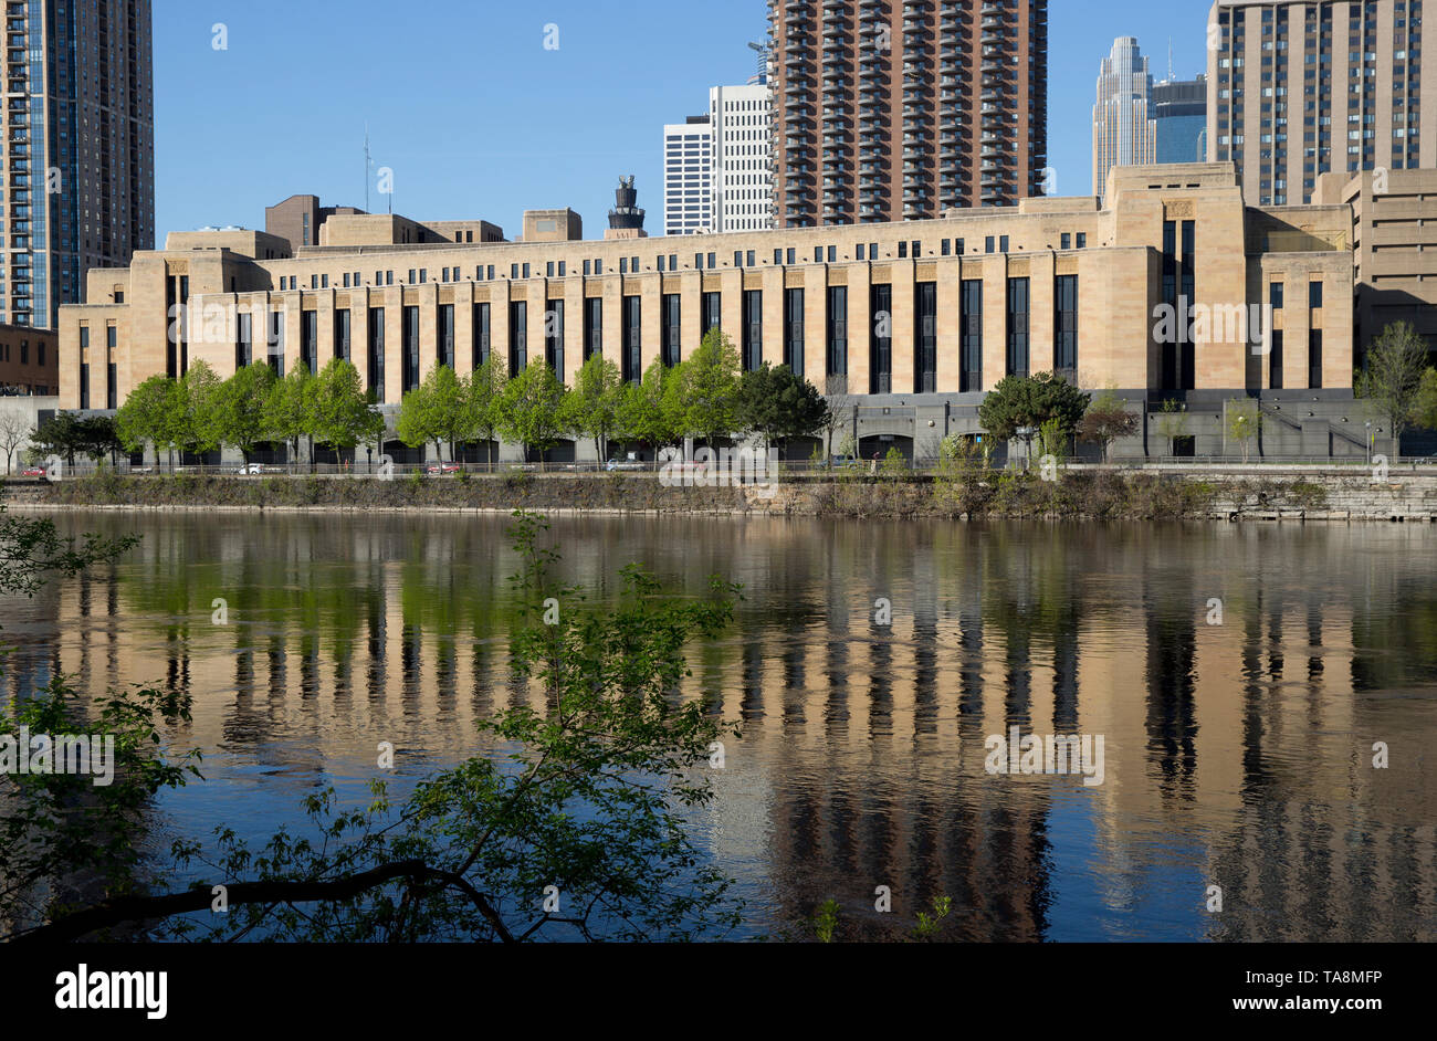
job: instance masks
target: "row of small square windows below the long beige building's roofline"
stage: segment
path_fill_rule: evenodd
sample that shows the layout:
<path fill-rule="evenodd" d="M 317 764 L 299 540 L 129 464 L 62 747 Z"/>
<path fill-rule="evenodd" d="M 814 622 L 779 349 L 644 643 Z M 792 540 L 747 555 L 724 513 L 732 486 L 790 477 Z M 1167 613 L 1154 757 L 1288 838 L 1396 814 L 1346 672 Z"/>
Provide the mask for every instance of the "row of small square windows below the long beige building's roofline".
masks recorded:
<path fill-rule="evenodd" d="M 1059 248 L 1061 250 L 1071 250 L 1071 248 L 1075 248 L 1075 247 L 1079 248 L 1079 250 L 1086 248 L 1088 247 L 1088 234 L 1085 231 L 1078 231 L 1078 233 L 1063 231 L 1059 235 Z M 917 238 L 911 240 L 911 241 L 910 240 L 904 240 L 904 241 L 898 243 L 897 250 L 898 250 L 897 251 L 898 260 L 908 260 L 908 258 L 917 260 L 917 258 L 920 258 L 920 257 L 924 256 L 923 254 L 923 241 L 917 240 Z M 983 251 L 984 253 L 1007 253 L 1009 251 L 1009 237 L 1007 235 L 986 235 L 983 238 Z M 941 257 L 961 257 L 964 254 L 966 254 L 966 243 L 964 243 L 963 238 L 940 238 L 938 240 L 938 253 L 937 253 L 937 256 L 941 256 Z M 677 254 L 677 253 L 668 253 L 668 254 L 662 254 L 661 253 L 661 254 L 658 254 L 655 257 L 655 260 L 654 260 L 655 270 L 657 271 L 662 271 L 662 273 L 673 273 L 673 271 L 681 270 L 681 266 L 678 263 L 678 256 L 680 254 Z M 799 260 L 800 256 L 803 257 L 803 261 Z M 823 264 L 823 263 L 836 264 L 836 263 L 839 263 L 839 256 L 838 256 L 838 247 L 836 246 L 815 246 L 812 256 L 813 256 L 813 263 L 815 264 Z M 928 256 L 935 256 L 935 254 L 930 253 Z M 882 257 L 881 257 L 879 250 L 878 250 L 878 243 L 856 243 L 854 246 L 854 258 L 855 260 L 868 260 L 868 261 L 881 260 Z M 785 264 L 786 266 L 793 266 L 793 264 L 798 264 L 798 263 L 806 263 L 806 260 L 808 260 L 808 251 L 806 250 L 802 254 L 799 253 L 799 250 L 796 250 L 793 247 L 789 247 L 789 248 L 775 248 L 773 250 L 773 263 L 776 266 L 785 266 Z M 846 257 L 845 257 L 845 260 L 846 260 Z M 717 253 L 696 253 L 694 254 L 694 264 L 693 266 L 694 266 L 696 270 L 716 270 L 718 267 L 718 254 Z M 759 266 L 759 251 L 757 250 L 734 250 L 734 253 L 733 253 L 733 266 L 734 267 L 757 267 Z M 513 264 L 509 266 L 509 277 L 512 280 L 532 279 L 533 274 L 535 274 L 535 270 L 537 270 L 537 267 L 539 267 L 537 264 L 532 264 L 532 263 L 513 263 Z M 467 269 L 460 269 L 460 267 L 443 267 L 443 269 L 440 269 L 440 281 L 441 283 L 463 281 L 464 280 L 464 273 L 463 271 L 466 271 L 466 270 Z M 476 266 L 474 267 L 474 281 L 493 281 L 494 280 L 494 270 L 496 270 L 494 264 L 489 264 L 489 266 L 479 264 L 479 266 Z M 556 279 L 556 277 L 558 279 L 565 279 L 565 277 L 568 277 L 568 261 L 563 261 L 563 260 L 558 260 L 558 261 L 549 260 L 549 261 L 545 261 L 543 270 L 545 270 L 545 277 L 547 277 L 547 279 Z M 619 257 L 619 266 L 618 266 L 619 274 L 639 274 L 641 270 L 642 269 L 639 266 L 639 257 Z M 596 258 L 596 260 L 585 260 L 583 261 L 583 274 L 588 276 L 588 277 L 602 276 L 604 274 L 604 260 L 599 260 L 599 258 Z M 401 284 L 422 286 L 422 284 L 428 283 L 428 277 L 430 277 L 430 271 L 428 271 L 427 267 L 418 267 L 418 269 L 411 267 L 408 270 L 408 281 L 407 283 L 401 283 Z M 341 286 L 343 289 L 356 289 L 356 287 L 359 287 L 362 284 L 365 284 L 365 283 L 361 281 L 361 273 L 359 271 L 352 271 L 352 273 L 351 271 L 345 271 L 342 274 L 342 283 L 341 283 Z M 375 284 L 375 286 L 392 286 L 394 284 L 394 271 L 392 270 L 388 270 L 388 271 L 375 271 L 374 273 L 374 283 L 372 284 Z M 287 276 L 282 274 L 282 276 L 279 276 L 279 289 L 280 289 L 280 291 L 285 291 L 285 290 L 297 290 L 299 289 L 299 276 L 296 276 L 296 274 L 287 274 Z M 329 289 L 329 276 L 328 274 L 310 274 L 309 276 L 309 289 Z M 119 299 L 116 299 L 116 303 L 119 303 Z"/>

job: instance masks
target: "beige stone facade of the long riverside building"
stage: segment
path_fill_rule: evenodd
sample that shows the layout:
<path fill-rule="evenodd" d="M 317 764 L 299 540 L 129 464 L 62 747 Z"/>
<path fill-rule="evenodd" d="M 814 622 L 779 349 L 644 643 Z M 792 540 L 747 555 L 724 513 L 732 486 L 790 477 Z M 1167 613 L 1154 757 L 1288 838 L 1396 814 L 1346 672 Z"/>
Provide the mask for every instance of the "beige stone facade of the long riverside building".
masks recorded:
<path fill-rule="evenodd" d="M 103 312 L 69 309 L 62 312 L 60 388 L 66 406 L 78 396 L 78 329 L 103 313 L 121 320 L 121 398 L 139 381 L 165 372 L 165 280 L 190 277 L 191 296 L 205 294 L 228 300 L 231 306 L 259 306 L 286 314 L 286 368 L 299 362 L 299 314 L 313 309 L 319 314 L 318 363 L 333 355 L 333 312 L 349 307 L 352 313 L 352 358 L 366 372 L 365 310 L 385 309 L 385 386 L 387 402 L 401 393 L 402 306 L 420 307 L 421 376 L 437 356 L 437 309 L 454 304 L 456 359 L 467 370 L 473 358 L 473 303 L 493 303 L 490 330 L 494 349 L 507 356 L 509 302 L 527 300 L 529 355 L 543 356 L 543 316 L 546 302 L 563 299 L 565 378 L 572 379 L 582 363 L 582 300 L 604 300 L 604 350 L 619 359 L 622 339 L 622 300 L 642 300 L 641 360 L 647 366 L 658 356 L 661 343 L 661 299 L 677 291 L 681 299 L 683 345 L 687 356 L 697 346 L 700 293 L 720 291 L 721 326 L 741 347 L 744 287 L 763 293 L 763 358 L 779 363 L 783 358 L 785 286 L 805 289 L 805 375 L 821 389 L 826 386 L 826 307 L 828 287 L 848 287 L 848 389 L 867 393 L 869 388 L 869 346 L 874 316 L 869 314 L 869 287 L 892 286 L 892 391 L 911 393 L 917 349 L 915 284 L 935 281 L 938 291 L 937 389 L 956 393 L 960 386 L 960 283 L 983 281 L 983 385 L 992 388 L 1006 375 L 1007 359 L 1007 280 L 1029 281 L 1029 358 L 1030 370 L 1042 372 L 1053 362 L 1053 280 L 1058 274 L 1076 274 L 1078 373 L 1083 386 L 1157 389 L 1161 381 L 1161 347 L 1154 339 L 1154 306 L 1161 302 L 1163 224 L 1178 227 L 1184 220 L 1196 224 L 1194 300 L 1203 307 L 1246 307 L 1266 300 L 1262 271 L 1292 271 L 1289 300 L 1305 302 L 1309 276 L 1325 281 L 1325 307 L 1315 316 L 1285 314 L 1296 335 L 1312 319 L 1323 329 L 1323 386 L 1348 386 L 1351 382 L 1351 269 L 1345 223 L 1349 207 L 1285 207 L 1272 211 L 1246 210 L 1230 164 L 1173 164 L 1154 168 L 1115 168 L 1109 177 L 1109 208 L 1098 211 L 1094 200 L 1027 200 L 1020 207 L 957 211 L 941 220 L 902 224 L 861 224 L 829 228 L 786 228 L 736 233 L 727 235 L 690 235 L 612 241 L 559 243 L 486 243 L 463 246 L 368 244 L 362 248 L 326 248 L 305 251 L 287 260 L 249 260 L 231 251 L 187 250 L 137 254 L 131 269 L 92 273 L 95 286 L 125 286 L 125 303 Z M 325 223 L 326 230 L 342 231 L 346 217 Z M 1280 234 L 1275 234 L 1280 233 Z M 1078 235 L 1086 238 L 1078 248 Z M 1007 237 L 1007 253 L 1002 237 Z M 1063 235 L 1068 235 L 1065 240 Z M 993 251 L 987 251 L 987 240 Z M 957 253 L 957 240 L 963 254 Z M 1273 240 L 1273 241 L 1267 241 Z M 917 250 L 914 248 L 917 243 Z M 947 250 L 943 248 L 944 243 Z M 900 244 L 907 256 L 900 257 Z M 1069 248 L 1063 248 L 1063 246 Z M 1249 251 L 1267 244 L 1270 251 L 1256 258 Z M 1339 246 L 1342 248 L 1339 248 Z M 815 261 L 815 247 L 822 261 Z M 833 261 L 829 263 L 829 247 Z M 858 260 L 862 247 L 864 260 Z M 875 248 L 877 247 L 877 248 Z M 1302 247 L 1302 248 L 1296 248 Z M 795 263 L 773 264 L 775 248 Z M 754 266 L 734 267 L 734 253 L 754 254 Z M 714 269 L 707 254 L 714 253 Z M 947 256 L 944 256 L 947 253 Z M 662 254 L 678 257 L 678 270 L 658 271 Z M 696 266 L 696 254 L 701 263 Z M 619 274 L 619 260 L 638 257 L 638 273 Z M 566 277 L 543 277 L 550 261 L 565 261 Z M 585 261 L 599 261 L 604 274 L 583 276 Z M 529 264 L 533 277 L 512 283 L 510 269 Z M 493 266 L 494 280 L 476 279 Z M 1267 266 L 1267 267 L 1263 267 Z M 1273 267 L 1275 266 L 1275 267 Z M 668 263 L 665 263 L 668 267 Z M 703 270 L 700 270 L 700 267 Z M 424 273 L 422 284 L 405 286 L 410 271 Z M 1255 274 L 1255 270 L 1257 271 Z M 448 279 L 445 280 L 445 271 Z M 343 287 L 343 279 L 359 274 L 359 286 Z M 394 283 L 388 284 L 392 274 Z M 296 290 L 280 290 L 282 281 L 295 277 Z M 310 289 L 312 281 L 328 277 L 328 289 Z M 98 280 L 98 281 L 96 281 Z M 1299 287 L 1298 283 L 1302 283 Z M 1345 289 L 1344 289 L 1345 286 Z M 231 291 L 233 287 L 233 291 Z M 1344 304 L 1342 302 L 1346 300 Z M 356 303 L 358 302 L 358 303 Z M 1289 312 L 1292 307 L 1289 306 Z M 263 325 L 256 323 L 256 356 L 263 356 Z M 1293 340 L 1295 342 L 1295 340 Z M 1305 339 L 1303 339 L 1305 343 Z M 227 349 L 224 349 L 227 347 Z M 1285 352 L 1285 385 L 1306 382 L 1303 359 Z M 191 359 L 201 356 L 194 349 Z M 205 346 L 203 356 L 221 376 L 233 370 L 233 342 Z M 1299 373 L 1300 369 L 1300 373 Z M 1299 378 L 1302 383 L 1293 382 Z M 1257 389 L 1263 386 L 1249 345 L 1233 336 L 1220 336 L 1196 350 L 1196 389 Z"/>

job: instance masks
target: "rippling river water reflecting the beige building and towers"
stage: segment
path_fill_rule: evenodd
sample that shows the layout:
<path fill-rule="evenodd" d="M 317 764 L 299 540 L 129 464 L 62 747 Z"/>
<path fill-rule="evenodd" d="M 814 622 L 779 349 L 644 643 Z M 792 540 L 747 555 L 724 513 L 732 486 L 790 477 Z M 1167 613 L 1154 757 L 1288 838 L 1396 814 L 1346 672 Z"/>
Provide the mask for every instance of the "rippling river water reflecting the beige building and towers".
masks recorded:
<path fill-rule="evenodd" d="M 172 737 L 208 780 L 161 800 L 165 844 L 266 836 L 322 784 L 359 800 L 378 741 L 412 783 L 525 696 L 506 517 L 59 523 L 142 541 L 0 602 L 4 694 L 55 671 L 187 688 Z M 743 583 L 733 629 L 690 653 L 741 724 L 693 820 L 739 882 L 740 936 L 812 935 L 826 899 L 842 936 L 891 935 L 948 896 L 958 940 L 1437 938 L 1431 527 L 585 517 L 549 536 L 599 603 L 631 561 L 696 594 Z M 1089 755 L 1025 772 L 990 754 L 1015 728 Z"/>

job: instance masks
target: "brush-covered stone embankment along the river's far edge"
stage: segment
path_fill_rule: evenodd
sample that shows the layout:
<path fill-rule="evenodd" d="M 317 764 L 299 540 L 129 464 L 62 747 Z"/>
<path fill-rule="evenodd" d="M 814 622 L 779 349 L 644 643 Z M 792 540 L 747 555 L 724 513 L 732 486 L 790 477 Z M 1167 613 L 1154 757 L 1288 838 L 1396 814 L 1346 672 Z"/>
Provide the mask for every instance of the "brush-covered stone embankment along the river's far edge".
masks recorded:
<path fill-rule="evenodd" d="M 323 478 L 116 477 L 6 481 L 16 508 L 1050 517 L 1096 520 L 1437 520 L 1437 468 L 1147 467 L 1036 472 L 782 474 L 750 485 L 671 487 L 655 474 Z"/>

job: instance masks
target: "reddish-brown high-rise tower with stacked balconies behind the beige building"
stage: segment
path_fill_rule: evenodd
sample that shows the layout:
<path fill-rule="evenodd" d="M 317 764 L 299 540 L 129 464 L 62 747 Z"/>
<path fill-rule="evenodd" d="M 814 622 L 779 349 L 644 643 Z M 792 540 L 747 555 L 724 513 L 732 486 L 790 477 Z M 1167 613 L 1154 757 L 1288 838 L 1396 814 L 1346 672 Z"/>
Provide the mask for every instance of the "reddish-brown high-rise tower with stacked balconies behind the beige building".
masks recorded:
<path fill-rule="evenodd" d="M 1048 0 L 769 0 L 777 227 L 1042 194 Z"/>

